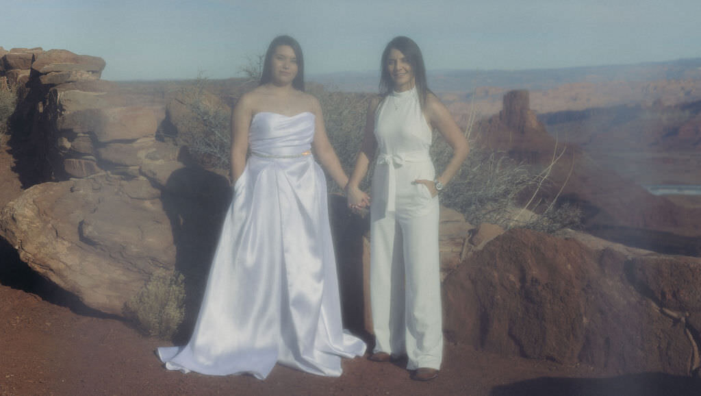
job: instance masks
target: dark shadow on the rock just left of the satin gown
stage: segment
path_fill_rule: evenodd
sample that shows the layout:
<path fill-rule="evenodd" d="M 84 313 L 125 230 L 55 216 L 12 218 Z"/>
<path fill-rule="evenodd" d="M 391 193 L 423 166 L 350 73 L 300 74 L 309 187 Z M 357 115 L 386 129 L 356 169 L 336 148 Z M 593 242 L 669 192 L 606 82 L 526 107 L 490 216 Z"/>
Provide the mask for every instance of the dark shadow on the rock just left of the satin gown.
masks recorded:
<path fill-rule="evenodd" d="M 174 171 L 161 194 L 177 249 L 175 270 L 185 277 L 185 319 L 173 338 L 186 343 L 202 302 L 224 214 L 231 201 L 229 180 L 199 166 Z"/>

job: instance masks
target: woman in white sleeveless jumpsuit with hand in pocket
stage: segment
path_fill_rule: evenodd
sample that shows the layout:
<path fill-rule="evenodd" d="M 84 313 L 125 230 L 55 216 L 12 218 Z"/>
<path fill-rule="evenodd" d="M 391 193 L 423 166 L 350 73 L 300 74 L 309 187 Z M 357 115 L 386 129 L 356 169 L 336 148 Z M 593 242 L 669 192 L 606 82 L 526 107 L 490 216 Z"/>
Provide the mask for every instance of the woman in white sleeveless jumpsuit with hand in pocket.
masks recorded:
<path fill-rule="evenodd" d="M 348 206 L 370 205 L 370 298 L 375 347 L 369 359 L 408 358 L 411 378 L 437 376 L 442 311 L 437 194 L 468 155 L 447 108 L 428 90 L 421 50 L 395 37 L 382 54 L 380 95 L 370 100 L 365 137 L 348 182 Z M 432 130 L 453 148 L 440 174 L 430 159 Z M 376 158 L 372 204 L 358 185 Z"/>

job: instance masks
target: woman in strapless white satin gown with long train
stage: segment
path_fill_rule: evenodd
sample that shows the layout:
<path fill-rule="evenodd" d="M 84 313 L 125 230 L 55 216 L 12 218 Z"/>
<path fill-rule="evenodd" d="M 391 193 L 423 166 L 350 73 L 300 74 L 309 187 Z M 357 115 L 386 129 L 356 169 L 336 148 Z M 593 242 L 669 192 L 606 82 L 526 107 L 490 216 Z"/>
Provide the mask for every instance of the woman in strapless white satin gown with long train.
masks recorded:
<path fill-rule="evenodd" d="M 158 348 L 165 367 L 266 378 L 276 362 L 341 375 L 365 353 L 343 331 L 324 173 L 348 182 L 321 107 L 304 93 L 297 41 L 276 37 L 259 87 L 232 113 L 234 197 L 189 343 Z M 250 157 L 247 152 L 250 149 Z M 314 156 L 311 154 L 313 149 Z"/>

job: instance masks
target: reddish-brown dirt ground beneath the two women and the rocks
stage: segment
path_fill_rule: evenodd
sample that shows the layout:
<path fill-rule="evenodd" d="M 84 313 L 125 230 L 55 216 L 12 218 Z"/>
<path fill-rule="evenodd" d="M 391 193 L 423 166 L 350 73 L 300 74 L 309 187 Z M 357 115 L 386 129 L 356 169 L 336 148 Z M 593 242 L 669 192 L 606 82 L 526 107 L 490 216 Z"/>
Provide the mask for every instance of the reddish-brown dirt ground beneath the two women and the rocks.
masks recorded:
<path fill-rule="evenodd" d="M 13 158 L 0 150 L 0 207 L 21 193 Z M 169 345 L 85 308 L 22 263 L 0 239 L 0 395 L 698 395 L 697 380 L 665 374 L 603 378 L 566 367 L 446 345 L 440 376 L 409 379 L 399 364 L 343 362 L 324 378 L 275 367 L 252 376 L 167 371 L 154 350 Z"/>

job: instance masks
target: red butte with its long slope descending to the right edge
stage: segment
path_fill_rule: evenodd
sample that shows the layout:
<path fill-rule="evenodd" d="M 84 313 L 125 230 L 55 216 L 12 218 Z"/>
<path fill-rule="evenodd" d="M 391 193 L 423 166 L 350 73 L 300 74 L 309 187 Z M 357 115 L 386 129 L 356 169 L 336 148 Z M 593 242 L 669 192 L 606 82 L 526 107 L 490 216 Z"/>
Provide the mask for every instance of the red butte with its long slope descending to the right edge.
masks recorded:
<path fill-rule="evenodd" d="M 536 169 L 546 169 L 564 152 L 550 172 L 550 186 L 540 190 L 540 197 L 552 199 L 564 186 L 560 197 L 583 207 L 585 225 L 592 232 L 617 227 L 620 233 L 644 229 L 686 237 L 701 235 L 701 211 L 656 197 L 615 171 L 594 163 L 576 145 L 558 142 L 548 135 L 535 114 L 524 108 L 524 96 L 522 91 L 505 95 L 505 110 L 499 116 L 479 121 L 475 130 L 480 145 L 506 152 Z M 625 235 L 621 238 L 625 239 Z"/>

